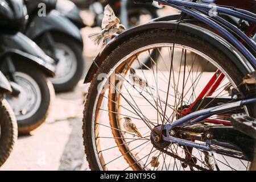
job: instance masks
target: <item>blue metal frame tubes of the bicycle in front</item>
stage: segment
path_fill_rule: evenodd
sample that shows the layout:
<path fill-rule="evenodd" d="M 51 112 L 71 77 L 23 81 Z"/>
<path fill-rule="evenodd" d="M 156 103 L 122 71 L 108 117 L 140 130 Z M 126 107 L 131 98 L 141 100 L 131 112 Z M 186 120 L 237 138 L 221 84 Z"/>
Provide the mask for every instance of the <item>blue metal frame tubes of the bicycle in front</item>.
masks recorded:
<path fill-rule="evenodd" d="M 245 42 L 248 46 L 250 46 L 251 50 L 256 52 L 256 43 L 251 40 L 247 35 L 245 35 L 241 30 L 237 27 L 233 26 L 233 24 L 227 22 L 225 19 L 221 18 L 220 16 L 209 15 L 209 10 L 213 9 L 216 10 L 217 13 L 224 13 L 232 16 L 236 16 L 237 18 L 241 18 L 251 23 L 256 23 L 256 15 L 250 13 L 249 11 L 242 10 L 242 9 L 234 9 L 233 7 L 220 7 L 214 6 L 207 3 L 213 3 L 213 0 L 203 0 L 203 3 L 199 2 L 191 2 L 191 1 L 184 1 L 184 0 L 155 0 L 164 5 L 172 6 L 175 9 L 183 11 L 184 13 L 191 15 L 202 22 L 208 24 L 210 27 L 215 28 L 218 32 L 224 35 L 234 46 L 237 47 L 238 51 L 240 51 L 250 63 L 256 67 L 256 59 L 253 54 L 247 49 L 241 42 L 238 40 L 234 35 L 232 35 L 229 30 L 232 30 L 235 34 L 240 36 L 240 38 Z M 203 15 L 202 15 L 203 14 Z M 220 114 L 225 111 L 233 110 L 240 108 L 242 106 L 251 104 L 256 102 L 256 98 L 250 98 L 242 101 L 232 102 L 230 104 L 225 104 L 221 106 L 210 107 L 208 109 L 195 111 L 194 113 L 185 115 L 184 117 L 177 119 L 177 121 L 173 123 L 168 123 L 163 126 L 158 126 L 155 129 L 158 131 L 166 130 L 166 137 L 162 135 L 162 139 L 171 142 L 171 143 L 178 143 L 188 147 L 195 147 L 205 151 L 216 151 L 214 148 L 210 147 L 211 140 L 206 140 L 206 144 L 198 144 L 195 142 L 191 142 L 189 140 L 184 140 L 180 138 L 175 138 L 170 135 L 170 130 L 174 129 L 177 126 L 193 124 L 203 121 L 204 119 L 215 115 Z M 151 137 L 154 139 L 154 133 L 151 133 Z M 218 151 L 220 152 L 220 151 Z M 224 153 L 226 151 L 223 151 Z M 228 151 L 230 153 L 230 151 Z M 242 158 L 242 156 L 240 156 Z"/>

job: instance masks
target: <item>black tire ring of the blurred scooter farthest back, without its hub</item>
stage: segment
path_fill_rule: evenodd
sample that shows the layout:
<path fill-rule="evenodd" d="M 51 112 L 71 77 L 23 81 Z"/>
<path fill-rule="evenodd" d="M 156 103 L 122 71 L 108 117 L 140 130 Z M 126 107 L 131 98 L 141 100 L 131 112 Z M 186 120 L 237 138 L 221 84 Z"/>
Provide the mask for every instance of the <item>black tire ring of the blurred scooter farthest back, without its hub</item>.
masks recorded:
<path fill-rule="evenodd" d="M 62 84 L 53 83 L 55 92 L 68 92 L 75 88 L 77 83 L 80 81 L 82 74 L 84 73 L 85 63 L 84 56 L 82 54 L 82 46 L 81 43 L 79 43 L 76 39 L 72 38 L 71 36 L 61 34 L 60 32 L 51 32 L 51 35 L 55 43 L 61 43 L 65 46 L 68 46 L 76 56 L 77 68 L 75 75 L 73 75 L 73 77 L 67 82 L 64 82 Z"/>

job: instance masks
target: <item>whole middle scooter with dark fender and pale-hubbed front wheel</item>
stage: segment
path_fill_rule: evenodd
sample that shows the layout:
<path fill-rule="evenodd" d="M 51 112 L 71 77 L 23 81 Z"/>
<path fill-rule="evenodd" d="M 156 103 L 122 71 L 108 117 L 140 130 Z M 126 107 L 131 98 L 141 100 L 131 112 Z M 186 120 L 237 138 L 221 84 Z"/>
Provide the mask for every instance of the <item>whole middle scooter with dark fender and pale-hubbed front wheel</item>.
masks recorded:
<path fill-rule="evenodd" d="M 0 0 L 0 71 L 13 89 L 5 98 L 14 110 L 19 133 L 28 133 L 49 113 L 55 92 L 47 77 L 55 76 L 55 68 L 53 59 L 19 32 L 25 25 L 23 7 L 22 1 Z"/>

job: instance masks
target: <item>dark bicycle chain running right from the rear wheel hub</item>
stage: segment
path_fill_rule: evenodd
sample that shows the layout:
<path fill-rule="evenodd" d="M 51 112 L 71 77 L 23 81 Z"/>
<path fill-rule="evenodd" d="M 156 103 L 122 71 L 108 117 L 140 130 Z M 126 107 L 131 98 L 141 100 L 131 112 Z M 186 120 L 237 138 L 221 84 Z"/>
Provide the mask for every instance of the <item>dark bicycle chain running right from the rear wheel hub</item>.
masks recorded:
<path fill-rule="evenodd" d="M 182 127 L 176 127 L 175 129 L 179 129 L 181 131 L 193 131 L 193 132 L 199 132 L 199 133 L 204 133 L 204 131 L 202 130 L 195 130 L 195 129 L 184 129 Z M 159 148 L 158 146 L 155 145 L 154 142 L 151 141 L 151 143 L 153 144 L 153 146 L 159 150 L 160 152 L 163 152 L 164 154 L 167 154 L 167 155 L 170 155 L 172 158 L 175 158 L 177 160 L 180 160 L 181 162 L 184 162 L 186 164 L 188 164 L 188 166 L 191 166 L 191 167 L 195 167 L 201 171 L 210 171 L 209 169 L 207 168 L 204 168 L 204 167 L 201 167 L 195 163 L 193 163 L 191 160 L 188 160 L 188 159 L 184 159 L 184 158 L 181 158 L 179 155 L 175 155 L 174 153 L 170 152 L 170 151 L 167 151 L 167 150 L 164 150 L 163 148 Z"/>

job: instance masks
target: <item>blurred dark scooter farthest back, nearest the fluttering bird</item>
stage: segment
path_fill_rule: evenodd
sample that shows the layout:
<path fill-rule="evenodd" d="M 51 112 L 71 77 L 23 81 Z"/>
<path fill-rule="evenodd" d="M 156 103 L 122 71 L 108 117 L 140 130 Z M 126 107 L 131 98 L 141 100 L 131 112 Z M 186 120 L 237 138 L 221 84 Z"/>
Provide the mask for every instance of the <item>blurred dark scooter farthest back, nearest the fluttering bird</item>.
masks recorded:
<path fill-rule="evenodd" d="M 84 25 L 80 15 L 77 20 L 78 10 L 71 6 L 73 11 L 68 11 L 67 8 L 72 3 L 63 2 L 63 0 L 26 0 L 24 2 L 28 12 L 24 34 L 55 60 L 56 77 L 51 78 L 55 91 L 72 90 L 84 71 L 83 42 L 79 30 Z M 43 6 L 38 7 L 39 3 L 44 3 L 45 15 L 38 14 L 40 8 L 43 8 Z M 67 17 L 72 19 L 73 23 Z"/>

